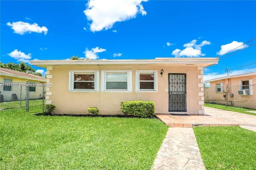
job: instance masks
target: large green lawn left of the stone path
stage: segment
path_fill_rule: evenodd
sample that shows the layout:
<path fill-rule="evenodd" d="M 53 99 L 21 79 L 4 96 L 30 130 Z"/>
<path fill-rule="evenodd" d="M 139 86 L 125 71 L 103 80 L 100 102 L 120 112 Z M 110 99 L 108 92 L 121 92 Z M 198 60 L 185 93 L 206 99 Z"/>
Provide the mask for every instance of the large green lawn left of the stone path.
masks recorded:
<path fill-rule="evenodd" d="M 0 114 L 5 169 L 149 170 L 168 127 L 157 119 Z"/>

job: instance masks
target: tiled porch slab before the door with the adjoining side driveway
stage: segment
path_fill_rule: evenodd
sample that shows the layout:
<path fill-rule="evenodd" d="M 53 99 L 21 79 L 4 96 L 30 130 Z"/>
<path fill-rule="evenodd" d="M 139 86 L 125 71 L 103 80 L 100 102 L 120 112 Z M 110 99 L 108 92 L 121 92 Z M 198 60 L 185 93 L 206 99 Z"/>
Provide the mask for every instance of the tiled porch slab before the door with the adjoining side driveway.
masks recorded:
<path fill-rule="evenodd" d="M 241 126 L 256 130 L 256 116 L 204 107 L 204 115 L 156 114 L 169 127 Z M 254 131 L 255 131 L 254 130 Z"/>

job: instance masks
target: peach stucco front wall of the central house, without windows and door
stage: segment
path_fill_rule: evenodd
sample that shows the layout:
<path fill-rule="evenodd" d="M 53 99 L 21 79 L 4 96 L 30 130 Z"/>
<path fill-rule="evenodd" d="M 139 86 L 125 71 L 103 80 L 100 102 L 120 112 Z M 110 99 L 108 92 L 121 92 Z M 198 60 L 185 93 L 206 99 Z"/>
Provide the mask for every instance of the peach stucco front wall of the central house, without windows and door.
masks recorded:
<path fill-rule="evenodd" d="M 164 73 L 161 77 L 160 70 Z M 132 92 L 69 92 L 69 71 L 132 71 Z M 137 70 L 157 71 L 157 92 L 136 92 Z M 204 114 L 203 67 L 172 65 L 137 65 L 137 66 L 52 66 L 47 67 L 47 82 L 52 87 L 46 88 L 46 103 L 56 106 L 54 114 L 88 114 L 88 107 L 98 107 L 102 115 L 123 115 L 120 102 L 141 99 L 154 101 L 156 113 L 170 113 L 168 73 L 186 73 L 187 114 Z M 101 72 L 100 78 L 101 80 Z M 103 82 L 99 81 L 99 87 Z M 181 113 L 181 112 L 178 112 Z"/>

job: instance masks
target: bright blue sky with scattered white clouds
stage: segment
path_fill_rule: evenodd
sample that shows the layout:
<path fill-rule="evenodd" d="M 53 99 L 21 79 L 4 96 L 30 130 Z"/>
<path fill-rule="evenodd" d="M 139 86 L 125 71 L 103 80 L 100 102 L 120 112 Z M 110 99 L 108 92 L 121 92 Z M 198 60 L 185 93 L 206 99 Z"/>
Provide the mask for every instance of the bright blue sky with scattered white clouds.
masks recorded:
<path fill-rule="evenodd" d="M 256 1 L 1 0 L 0 15 L 3 63 L 220 57 L 204 80 L 227 75 L 226 67 L 230 75 L 256 71 Z"/>

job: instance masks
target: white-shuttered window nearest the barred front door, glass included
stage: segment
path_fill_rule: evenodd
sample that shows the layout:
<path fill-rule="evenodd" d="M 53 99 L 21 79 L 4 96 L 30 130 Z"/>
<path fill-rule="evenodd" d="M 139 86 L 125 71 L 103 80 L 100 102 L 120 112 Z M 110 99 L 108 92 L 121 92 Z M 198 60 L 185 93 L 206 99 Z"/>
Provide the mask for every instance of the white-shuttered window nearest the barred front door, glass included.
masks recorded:
<path fill-rule="evenodd" d="M 136 71 L 136 91 L 157 91 L 157 71 Z"/>

